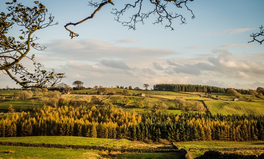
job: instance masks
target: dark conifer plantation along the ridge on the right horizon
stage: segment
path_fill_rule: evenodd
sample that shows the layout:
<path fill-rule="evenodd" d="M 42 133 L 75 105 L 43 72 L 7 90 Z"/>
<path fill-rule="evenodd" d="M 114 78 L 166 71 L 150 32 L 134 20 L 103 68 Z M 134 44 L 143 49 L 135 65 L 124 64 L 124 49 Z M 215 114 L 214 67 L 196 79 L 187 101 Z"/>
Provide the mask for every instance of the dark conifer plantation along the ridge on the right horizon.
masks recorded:
<path fill-rule="evenodd" d="M 153 90 L 163 90 L 172 92 L 228 93 L 228 88 L 192 84 L 156 84 L 153 86 Z M 234 90 L 241 94 L 248 94 L 248 90 Z"/>

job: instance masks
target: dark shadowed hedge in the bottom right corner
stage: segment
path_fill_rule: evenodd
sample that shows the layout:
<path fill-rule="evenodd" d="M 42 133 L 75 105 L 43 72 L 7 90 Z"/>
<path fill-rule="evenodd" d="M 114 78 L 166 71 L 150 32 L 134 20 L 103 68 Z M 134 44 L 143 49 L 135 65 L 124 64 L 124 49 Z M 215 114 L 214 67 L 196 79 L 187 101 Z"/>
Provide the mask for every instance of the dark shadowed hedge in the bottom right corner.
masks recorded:
<path fill-rule="evenodd" d="M 242 155 L 229 154 L 220 151 L 206 151 L 203 155 L 195 157 L 195 159 L 264 159 L 264 154 L 256 155 Z"/>

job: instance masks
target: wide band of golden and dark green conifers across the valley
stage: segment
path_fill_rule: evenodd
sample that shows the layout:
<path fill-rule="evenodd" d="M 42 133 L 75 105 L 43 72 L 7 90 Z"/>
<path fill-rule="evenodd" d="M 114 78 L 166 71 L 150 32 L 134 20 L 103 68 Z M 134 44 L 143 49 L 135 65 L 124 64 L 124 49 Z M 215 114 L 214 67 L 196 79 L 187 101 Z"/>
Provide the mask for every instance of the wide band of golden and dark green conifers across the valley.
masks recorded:
<path fill-rule="evenodd" d="M 0 137 L 81 136 L 143 141 L 264 140 L 264 117 L 204 113 L 135 113 L 81 103 L 14 113 L 0 120 Z"/>

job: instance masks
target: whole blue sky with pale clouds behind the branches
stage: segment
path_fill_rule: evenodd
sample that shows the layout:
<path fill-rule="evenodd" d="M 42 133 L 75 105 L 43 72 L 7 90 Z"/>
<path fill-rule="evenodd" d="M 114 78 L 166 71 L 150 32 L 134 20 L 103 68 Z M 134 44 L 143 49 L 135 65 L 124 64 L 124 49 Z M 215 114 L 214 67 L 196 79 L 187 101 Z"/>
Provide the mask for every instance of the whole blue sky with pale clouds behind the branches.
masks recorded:
<path fill-rule="evenodd" d="M 0 2 L 1 12 L 7 12 L 4 1 Z M 20 2 L 34 4 L 30 0 Z M 264 87 L 264 44 L 248 43 L 252 40 L 249 35 L 264 25 L 263 0 L 194 0 L 187 4 L 194 19 L 186 8 L 171 5 L 168 9 L 184 15 L 187 22 L 180 24 L 179 19 L 174 19 L 174 30 L 165 29 L 166 22 L 154 25 L 156 15 L 151 15 L 144 25 L 137 23 L 136 30 L 128 29 L 111 14 L 113 7 L 122 9 L 128 1 L 113 0 L 115 6 L 107 4 L 93 19 L 69 26 L 80 35 L 73 39 L 63 26 L 91 15 L 94 8 L 88 6 L 88 0 L 39 2 L 59 24 L 36 32 L 39 44 L 47 49 L 32 49 L 30 54 L 35 54 L 45 69 L 65 73 L 67 78 L 61 82 L 70 86 L 80 80 L 85 87 L 119 85 L 143 89 L 144 83 L 150 85 L 148 89 L 160 83 L 255 90 Z M 144 2 L 144 9 L 151 7 Z M 10 34 L 20 36 L 16 27 Z M 32 68 L 32 63 L 22 63 Z M 21 88 L 2 72 L 0 81 L 0 88 Z"/>

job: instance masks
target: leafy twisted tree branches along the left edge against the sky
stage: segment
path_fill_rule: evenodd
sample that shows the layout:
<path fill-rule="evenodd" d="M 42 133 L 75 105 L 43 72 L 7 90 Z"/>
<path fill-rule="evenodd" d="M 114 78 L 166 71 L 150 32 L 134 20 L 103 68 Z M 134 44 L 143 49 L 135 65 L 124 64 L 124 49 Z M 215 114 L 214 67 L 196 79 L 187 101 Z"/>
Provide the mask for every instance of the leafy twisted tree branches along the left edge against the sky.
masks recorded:
<path fill-rule="evenodd" d="M 9 5 L 7 8 L 9 13 L 1 12 L 0 14 L 0 70 L 24 88 L 49 87 L 59 83 L 65 77 L 64 73 L 56 73 L 54 69 L 46 71 L 41 63 L 35 61 L 34 54 L 31 57 L 28 56 L 31 48 L 46 49 L 45 46 L 36 43 L 39 38 L 33 33 L 56 25 L 57 23 L 52 24 L 54 17 L 49 15 L 47 18 L 48 10 L 38 1 L 35 1 L 36 6 L 33 8 L 23 6 L 16 0 L 6 4 Z M 19 36 L 19 40 L 8 36 L 12 28 L 20 29 L 21 27 L 22 35 Z M 33 71 L 29 71 L 20 62 L 25 57 L 32 61 L 35 67 Z"/>

